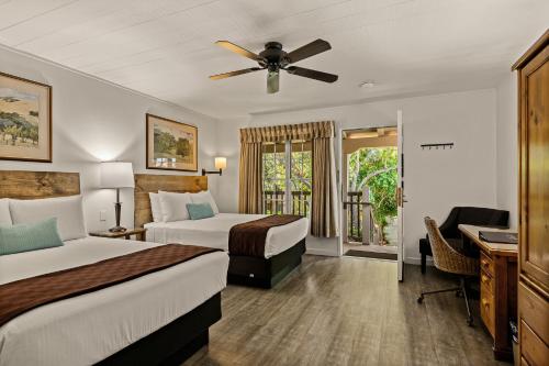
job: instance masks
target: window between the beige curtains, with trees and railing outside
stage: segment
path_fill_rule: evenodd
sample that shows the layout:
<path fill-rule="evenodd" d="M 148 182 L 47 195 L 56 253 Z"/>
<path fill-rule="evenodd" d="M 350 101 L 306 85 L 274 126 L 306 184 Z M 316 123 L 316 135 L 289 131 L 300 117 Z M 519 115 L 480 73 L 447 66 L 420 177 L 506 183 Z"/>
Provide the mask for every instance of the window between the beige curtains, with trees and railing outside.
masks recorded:
<path fill-rule="evenodd" d="M 264 213 L 309 217 L 311 155 L 310 141 L 264 144 Z"/>

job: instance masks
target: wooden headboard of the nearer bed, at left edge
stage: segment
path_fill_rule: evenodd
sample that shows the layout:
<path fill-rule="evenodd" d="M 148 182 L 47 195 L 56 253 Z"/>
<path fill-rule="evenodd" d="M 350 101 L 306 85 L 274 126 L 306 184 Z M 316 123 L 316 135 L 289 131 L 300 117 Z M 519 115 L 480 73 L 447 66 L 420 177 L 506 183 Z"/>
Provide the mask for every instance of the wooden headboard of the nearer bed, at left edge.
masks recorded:
<path fill-rule="evenodd" d="M 80 195 L 78 173 L 0 170 L 0 198 L 30 200 L 74 195 Z"/>

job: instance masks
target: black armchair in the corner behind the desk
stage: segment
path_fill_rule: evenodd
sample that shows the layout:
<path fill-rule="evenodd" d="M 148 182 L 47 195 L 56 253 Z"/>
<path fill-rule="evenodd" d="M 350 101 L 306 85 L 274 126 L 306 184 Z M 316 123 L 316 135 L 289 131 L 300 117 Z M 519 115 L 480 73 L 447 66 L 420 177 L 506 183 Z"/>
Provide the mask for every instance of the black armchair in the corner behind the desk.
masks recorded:
<path fill-rule="evenodd" d="M 439 230 L 446 240 L 461 240 L 459 224 L 506 228 L 508 220 L 508 211 L 480 207 L 455 207 Z M 422 274 L 425 274 L 427 256 L 433 255 L 428 235 L 419 240 L 419 253 L 422 254 Z"/>

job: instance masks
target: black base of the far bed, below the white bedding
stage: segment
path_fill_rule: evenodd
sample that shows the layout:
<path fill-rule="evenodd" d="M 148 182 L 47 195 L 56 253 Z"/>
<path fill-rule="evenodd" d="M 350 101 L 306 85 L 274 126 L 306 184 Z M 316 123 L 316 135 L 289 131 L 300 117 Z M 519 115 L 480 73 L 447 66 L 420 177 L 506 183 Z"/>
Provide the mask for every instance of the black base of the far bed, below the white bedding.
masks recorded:
<path fill-rule="evenodd" d="M 305 240 L 270 258 L 231 255 L 227 280 L 234 285 L 272 288 L 301 264 Z"/>

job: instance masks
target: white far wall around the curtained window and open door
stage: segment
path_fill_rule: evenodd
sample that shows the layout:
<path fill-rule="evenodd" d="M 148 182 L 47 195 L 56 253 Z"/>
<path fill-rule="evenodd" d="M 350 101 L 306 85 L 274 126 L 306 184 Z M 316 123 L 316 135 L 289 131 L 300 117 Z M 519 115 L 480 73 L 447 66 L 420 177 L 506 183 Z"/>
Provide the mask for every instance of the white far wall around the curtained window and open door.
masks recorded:
<path fill-rule="evenodd" d="M 405 195 L 405 259 L 418 263 L 418 240 L 425 235 L 423 218 L 442 221 L 453 206 L 496 206 L 495 90 L 474 90 L 447 95 L 376 101 L 356 106 L 285 113 L 253 115 L 222 121 L 220 149 L 238 155 L 240 126 L 334 120 L 337 129 L 396 124 L 396 110 L 403 110 Z M 225 124 L 225 125 L 224 125 Z M 338 133 L 336 151 L 339 154 Z M 422 151 L 423 143 L 453 142 L 453 149 Z M 339 159 L 337 159 L 339 165 Z M 221 206 L 236 211 L 238 179 L 233 162 L 220 184 Z M 231 196 L 233 195 L 233 196 Z M 310 241 L 313 253 L 337 255 L 337 241 Z"/>

